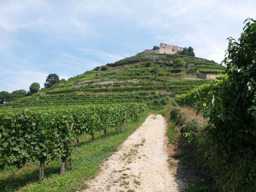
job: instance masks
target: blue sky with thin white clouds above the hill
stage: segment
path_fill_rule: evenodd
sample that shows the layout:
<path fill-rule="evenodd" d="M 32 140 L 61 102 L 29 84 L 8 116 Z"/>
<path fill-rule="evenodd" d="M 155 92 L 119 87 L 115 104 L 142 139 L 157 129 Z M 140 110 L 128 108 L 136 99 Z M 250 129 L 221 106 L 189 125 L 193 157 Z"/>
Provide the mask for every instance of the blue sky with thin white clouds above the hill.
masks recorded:
<path fill-rule="evenodd" d="M 0 0 L 0 91 L 92 70 L 160 43 L 221 63 L 255 0 Z"/>

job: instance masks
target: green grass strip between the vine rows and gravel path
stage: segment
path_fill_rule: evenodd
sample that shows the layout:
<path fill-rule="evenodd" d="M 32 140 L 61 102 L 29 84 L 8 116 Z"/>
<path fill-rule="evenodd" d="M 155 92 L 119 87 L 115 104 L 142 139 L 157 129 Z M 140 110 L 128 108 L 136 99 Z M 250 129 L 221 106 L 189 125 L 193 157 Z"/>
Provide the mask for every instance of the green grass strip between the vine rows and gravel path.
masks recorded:
<path fill-rule="evenodd" d="M 38 182 L 38 162 L 21 169 L 6 167 L 3 171 L 0 171 L 0 191 L 75 192 L 86 188 L 84 181 L 97 175 L 103 160 L 117 151 L 117 147 L 144 122 L 148 114 L 149 110 L 147 109 L 140 116 L 138 122 L 127 123 L 126 131 L 119 133 L 118 136 L 114 128 L 108 130 L 108 140 L 105 140 L 103 131 L 95 132 L 95 143 L 92 143 L 90 135 L 81 136 L 80 148 L 75 148 L 72 152 L 73 170 L 70 170 L 67 162 L 65 174 L 60 176 L 61 158 L 59 157 L 45 166 L 42 184 Z"/>

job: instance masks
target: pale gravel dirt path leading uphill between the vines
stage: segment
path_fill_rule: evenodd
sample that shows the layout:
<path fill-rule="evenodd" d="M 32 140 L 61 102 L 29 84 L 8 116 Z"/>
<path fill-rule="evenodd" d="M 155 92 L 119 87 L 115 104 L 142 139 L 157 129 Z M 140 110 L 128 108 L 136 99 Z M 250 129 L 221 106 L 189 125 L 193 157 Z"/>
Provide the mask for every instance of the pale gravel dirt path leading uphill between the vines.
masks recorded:
<path fill-rule="evenodd" d="M 182 181 L 170 173 L 167 163 L 166 123 L 161 115 L 150 115 L 120 146 L 99 175 L 86 182 L 84 192 L 179 191 Z"/>

